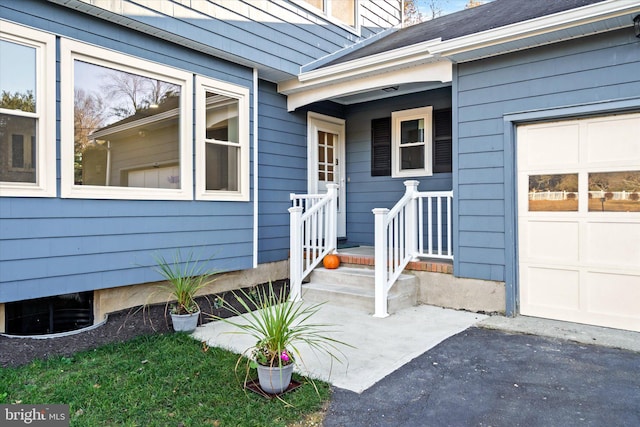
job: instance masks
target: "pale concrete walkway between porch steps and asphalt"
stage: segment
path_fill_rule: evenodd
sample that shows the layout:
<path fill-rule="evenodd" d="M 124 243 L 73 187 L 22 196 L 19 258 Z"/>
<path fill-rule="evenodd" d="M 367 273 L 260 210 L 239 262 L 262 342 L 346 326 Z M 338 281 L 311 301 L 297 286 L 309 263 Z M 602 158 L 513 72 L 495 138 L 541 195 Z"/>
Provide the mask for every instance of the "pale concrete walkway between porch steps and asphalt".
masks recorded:
<path fill-rule="evenodd" d="M 343 347 L 343 363 L 330 363 L 325 355 L 316 355 L 300 347 L 303 354 L 299 372 L 330 382 L 341 389 L 361 393 L 410 360 L 443 340 L 467 329 L 487 316 L 421 305 L 378 319 L 370 314 L 325 304 L 313 323 L 335 325 L 329 334 L 352 345 Z M 193 334 L 209 346 L 242 353 L 254 340 L 224 322 L 200 326 Z M 300 361 L 298 361 L 300 362 Z"/>

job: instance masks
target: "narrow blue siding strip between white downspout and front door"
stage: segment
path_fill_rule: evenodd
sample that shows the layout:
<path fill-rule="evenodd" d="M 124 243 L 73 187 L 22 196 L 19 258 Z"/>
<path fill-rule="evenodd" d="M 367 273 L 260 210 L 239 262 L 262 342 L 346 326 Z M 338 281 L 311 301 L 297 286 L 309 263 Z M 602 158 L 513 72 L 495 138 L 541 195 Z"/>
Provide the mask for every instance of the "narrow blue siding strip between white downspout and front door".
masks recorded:
<path fill-rule="evenodd" d="M 290 193 L 307 191 L 307 125 L 286 97 L 261 81 L 258 94 L 258 262 L 289 258 Z"/>

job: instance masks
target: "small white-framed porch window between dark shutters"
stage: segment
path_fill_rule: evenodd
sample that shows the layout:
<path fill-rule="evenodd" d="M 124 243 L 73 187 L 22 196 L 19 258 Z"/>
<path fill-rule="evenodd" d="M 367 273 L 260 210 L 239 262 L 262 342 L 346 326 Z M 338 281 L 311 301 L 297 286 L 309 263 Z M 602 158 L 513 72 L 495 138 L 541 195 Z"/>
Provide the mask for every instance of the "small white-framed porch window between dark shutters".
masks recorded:
<path fill-rule="evenodd" d="M 433 107 L 391 113 L 391 166 L 393 177 L 433 174 Z"/>

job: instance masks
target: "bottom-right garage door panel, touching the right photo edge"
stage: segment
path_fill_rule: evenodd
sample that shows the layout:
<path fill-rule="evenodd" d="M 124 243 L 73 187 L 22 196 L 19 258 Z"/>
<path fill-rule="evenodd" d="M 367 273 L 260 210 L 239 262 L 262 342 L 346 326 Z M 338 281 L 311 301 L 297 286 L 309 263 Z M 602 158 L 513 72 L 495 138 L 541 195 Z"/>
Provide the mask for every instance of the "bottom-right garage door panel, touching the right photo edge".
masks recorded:
<path fill-rule="evenodd" d="M 589 312 L 640 320 L 640 275 L 589 271 L 584 281 Z"/>

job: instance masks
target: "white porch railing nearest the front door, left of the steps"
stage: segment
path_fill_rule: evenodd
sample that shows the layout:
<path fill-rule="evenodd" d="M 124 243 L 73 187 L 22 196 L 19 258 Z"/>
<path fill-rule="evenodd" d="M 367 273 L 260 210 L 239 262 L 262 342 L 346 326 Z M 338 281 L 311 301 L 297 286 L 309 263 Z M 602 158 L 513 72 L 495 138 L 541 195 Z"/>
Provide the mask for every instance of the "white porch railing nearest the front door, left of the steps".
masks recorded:
<path fill-rule="evenodd" d="M 327 184 L 327 194 L 291 194 L 290 215 L 290 297 L 301 297 L 304 279 L 337 247 L 338 185 Z"/>

